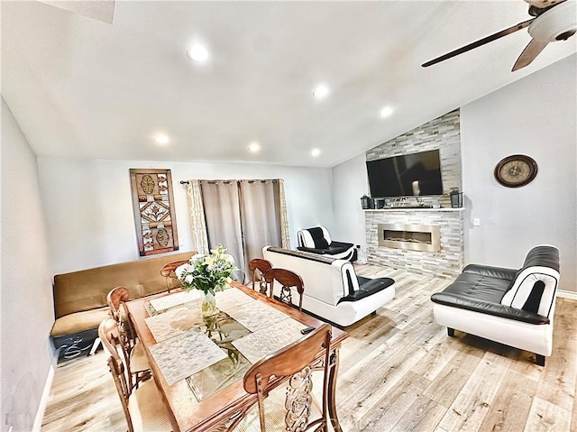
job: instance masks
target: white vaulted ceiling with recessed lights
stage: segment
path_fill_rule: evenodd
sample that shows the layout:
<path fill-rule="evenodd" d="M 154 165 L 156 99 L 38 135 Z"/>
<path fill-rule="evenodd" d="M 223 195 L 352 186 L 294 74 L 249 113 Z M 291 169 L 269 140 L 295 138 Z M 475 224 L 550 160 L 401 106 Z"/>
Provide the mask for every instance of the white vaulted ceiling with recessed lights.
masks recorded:
<path fill-rule="evenodd" d="M 2 94 L 39 155 L 331 167 L 577 51 L 511 72 L 522 30 L 420 66 L 528 18 L 521 0 L 121 0 L 110 24 L 3 1 Z"/>

